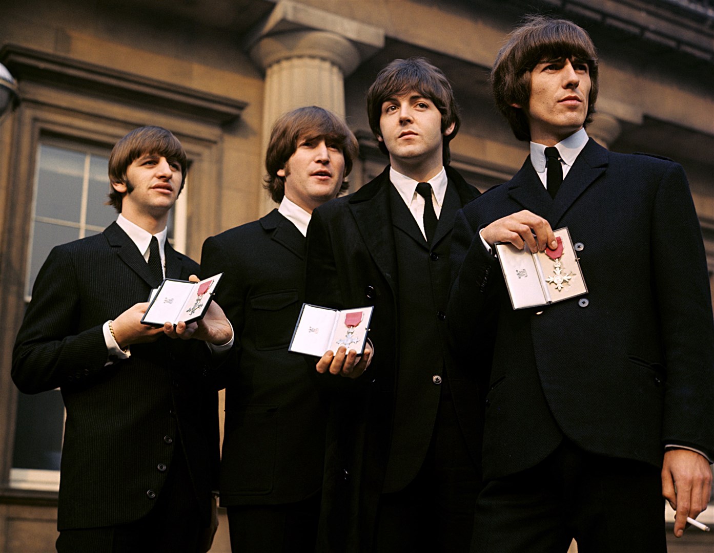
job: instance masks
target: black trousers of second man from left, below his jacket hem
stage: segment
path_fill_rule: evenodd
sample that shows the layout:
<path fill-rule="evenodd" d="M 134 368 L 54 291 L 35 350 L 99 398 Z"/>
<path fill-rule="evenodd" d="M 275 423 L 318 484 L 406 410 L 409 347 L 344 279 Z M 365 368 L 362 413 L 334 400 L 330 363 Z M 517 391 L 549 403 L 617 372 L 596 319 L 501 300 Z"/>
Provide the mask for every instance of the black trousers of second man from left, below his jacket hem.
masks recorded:
<path fill-rule="evenodd" d="M 231 551 L 311 553 L 319 516 L 320 494 L 296 503 L 228 507 Z"/>

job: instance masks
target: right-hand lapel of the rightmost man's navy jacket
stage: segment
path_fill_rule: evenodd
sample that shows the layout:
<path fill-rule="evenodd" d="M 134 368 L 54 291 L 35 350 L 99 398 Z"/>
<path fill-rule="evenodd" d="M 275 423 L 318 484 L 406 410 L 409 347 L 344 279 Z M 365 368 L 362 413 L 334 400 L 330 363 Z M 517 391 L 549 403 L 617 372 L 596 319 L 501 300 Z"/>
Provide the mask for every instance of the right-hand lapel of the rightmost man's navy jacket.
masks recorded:
<path fill-rule="evenodd" d="M 563 218 L 568 208 L 588 186 L 605 172 L 607 167 L 608 151 L 590 138 L 583 151 L 575 159 L 573 167 L 568 171 L 568 176 L 565 177 L 563 185 L 560 186 L 560 190 L 555 196 L 548 217 L 553 228 L 558 227 L 558 222 Z M 535 173 L 535 171 L 533 172 Z"/>

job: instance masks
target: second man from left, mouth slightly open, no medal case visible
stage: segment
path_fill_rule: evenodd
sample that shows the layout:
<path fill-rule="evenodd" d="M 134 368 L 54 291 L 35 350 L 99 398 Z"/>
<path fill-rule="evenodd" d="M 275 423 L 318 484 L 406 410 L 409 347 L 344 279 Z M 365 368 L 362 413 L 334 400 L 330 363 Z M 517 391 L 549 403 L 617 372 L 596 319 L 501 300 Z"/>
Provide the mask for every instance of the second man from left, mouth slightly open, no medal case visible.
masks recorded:
<path fill-rule="evenodd" d="M 235 552 L 315 548 L 326 404 L 301 355 L 288 352 L 301 303 L 312 210 L 347 187 L 357 141 L 316 106 L 278 118 L 266 188 L 280 207 L 203 244 L 204 275 L 223 271 L 221 305 L 236 330 L 226 362 L 221 507 Z"/>

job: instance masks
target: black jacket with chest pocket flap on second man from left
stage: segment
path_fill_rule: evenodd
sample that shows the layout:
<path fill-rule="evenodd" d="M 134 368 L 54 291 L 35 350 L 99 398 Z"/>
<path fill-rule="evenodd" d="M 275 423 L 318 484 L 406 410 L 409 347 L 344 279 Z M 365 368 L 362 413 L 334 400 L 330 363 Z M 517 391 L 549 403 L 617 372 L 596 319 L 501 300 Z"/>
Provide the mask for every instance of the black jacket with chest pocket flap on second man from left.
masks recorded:
<path fill-rule="evenodd" d="M 322 484 L 327 408 L 303 357 L 288 352 L 300 313 L 305 238 L 278 210 L 203 244 L 204 275 L 236 335 L 223 373 L 221 506 L 298 502 Z"/>

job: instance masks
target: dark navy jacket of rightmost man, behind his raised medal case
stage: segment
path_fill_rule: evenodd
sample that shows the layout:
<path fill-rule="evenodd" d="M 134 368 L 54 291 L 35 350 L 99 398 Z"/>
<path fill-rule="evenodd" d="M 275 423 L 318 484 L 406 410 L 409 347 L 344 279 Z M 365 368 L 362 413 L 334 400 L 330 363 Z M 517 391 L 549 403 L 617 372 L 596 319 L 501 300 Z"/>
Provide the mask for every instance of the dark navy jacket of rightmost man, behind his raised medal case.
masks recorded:
<path fill-rule="evenodd" d="M 478 230 L 528 209 L 580 243 L 588 294 L 514 311 Z M 473 243 L 472 243 L 473 242 Z M 456 342 L 495 330 L 483 470 L 543 460 L 562 437 L 660 465 L 663 446 L 714 455 L 714 330 L 705 252 L 677 163 L 592 139 L 554 201 L 530 158 L 457 216 L 449 320 Z"/>

